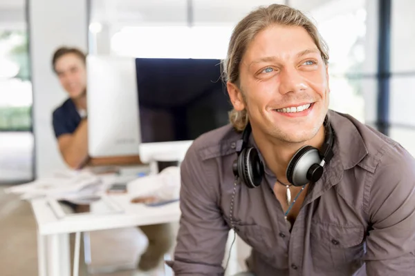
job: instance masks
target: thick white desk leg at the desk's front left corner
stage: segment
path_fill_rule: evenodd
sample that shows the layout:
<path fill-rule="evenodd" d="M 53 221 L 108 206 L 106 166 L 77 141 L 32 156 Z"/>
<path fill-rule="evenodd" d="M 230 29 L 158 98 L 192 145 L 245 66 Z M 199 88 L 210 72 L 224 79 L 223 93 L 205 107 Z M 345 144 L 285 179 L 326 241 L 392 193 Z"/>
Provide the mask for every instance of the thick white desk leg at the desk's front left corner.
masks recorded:
<path fill-rule="evenodd" d="M 71 259 L 68 234 L 48 235 L 48 276 L 70 276 Z"/>

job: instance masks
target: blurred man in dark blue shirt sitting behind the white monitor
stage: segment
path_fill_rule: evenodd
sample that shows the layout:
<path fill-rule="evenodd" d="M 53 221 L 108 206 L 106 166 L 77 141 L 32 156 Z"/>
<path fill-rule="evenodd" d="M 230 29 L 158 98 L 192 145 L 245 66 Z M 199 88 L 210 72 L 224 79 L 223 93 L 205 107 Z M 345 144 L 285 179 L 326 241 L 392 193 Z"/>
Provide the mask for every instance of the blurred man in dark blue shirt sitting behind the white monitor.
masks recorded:
<path fill-rule="evenodd" d="M 53 112 L 53 129 L 59 150 L 68 166 L 80 169 L 89 164 L 131 164 L 131 157 L 110 157 L 100 160 L 89 159 L 88 119 L 86 104 L 86 55 L 79 49 L 62 47 L 55 51 L 52 59 L 53 70 L 68 99 Z M 80 206 L 73 205 L 75 211 Z M 165 253 L 172 246 L 170 224 L 140 226 L 149 239 L 147 250 L 140 257 L 138 268 L 151 270 L 163 261 Z"/>

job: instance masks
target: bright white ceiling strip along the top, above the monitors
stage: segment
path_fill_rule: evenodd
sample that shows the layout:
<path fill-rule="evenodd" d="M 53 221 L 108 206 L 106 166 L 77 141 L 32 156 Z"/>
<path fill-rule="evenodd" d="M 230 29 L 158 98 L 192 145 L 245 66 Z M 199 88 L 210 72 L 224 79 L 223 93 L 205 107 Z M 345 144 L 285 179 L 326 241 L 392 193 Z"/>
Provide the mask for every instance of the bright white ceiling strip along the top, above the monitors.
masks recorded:
<path fill-rule="evenodd" d="M 290 0 L 290 6 L 311 10 L 333 0 Z M 253 8 L 285 0 L 193 0 L 194 23 L 238 21 Z M 91 21 L 110 26 L 187 24 L 187 0 L 91 0 Z"/>

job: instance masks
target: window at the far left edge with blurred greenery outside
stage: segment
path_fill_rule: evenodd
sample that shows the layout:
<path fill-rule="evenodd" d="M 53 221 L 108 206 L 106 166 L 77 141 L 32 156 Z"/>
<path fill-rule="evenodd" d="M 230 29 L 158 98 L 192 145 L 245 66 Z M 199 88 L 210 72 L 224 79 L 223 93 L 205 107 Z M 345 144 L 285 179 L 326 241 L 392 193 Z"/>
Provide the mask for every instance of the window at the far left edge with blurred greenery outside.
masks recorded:
<path fill-rule="evenodd" d="M 23 3 L 15 8 L 24 14 Z M 28 33 L 19 23 L 0 21 L 0 182 L 6 184 L 33 179 Z"/>

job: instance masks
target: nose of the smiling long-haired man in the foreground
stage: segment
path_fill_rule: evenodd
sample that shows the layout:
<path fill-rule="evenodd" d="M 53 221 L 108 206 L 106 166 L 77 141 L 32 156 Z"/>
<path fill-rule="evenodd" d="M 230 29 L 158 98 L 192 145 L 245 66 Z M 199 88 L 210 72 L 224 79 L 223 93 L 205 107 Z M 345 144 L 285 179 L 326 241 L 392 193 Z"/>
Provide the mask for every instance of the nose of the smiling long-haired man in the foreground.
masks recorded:
<path fill-rule="evenodd" d="M 306 82 L 296 68 L 284 68 L 279 75 L 279 93 L 303 92 L 306 90 Z"/>

